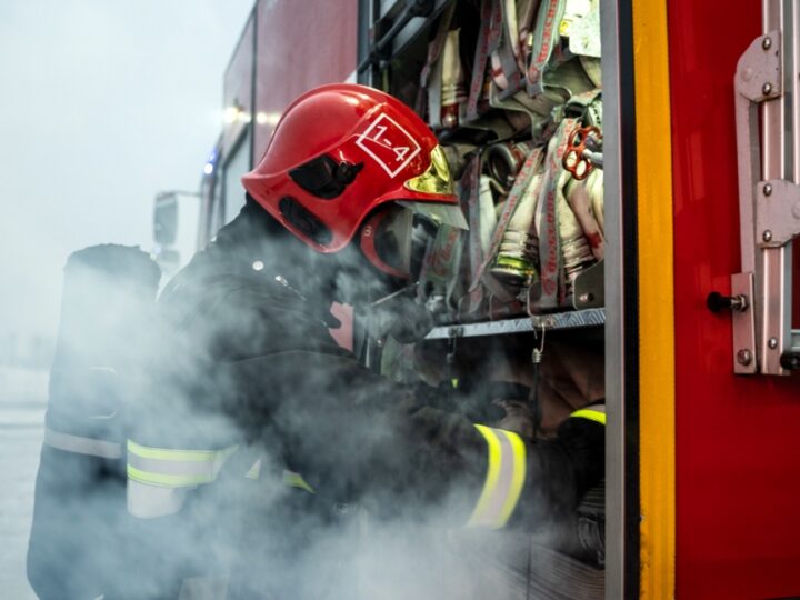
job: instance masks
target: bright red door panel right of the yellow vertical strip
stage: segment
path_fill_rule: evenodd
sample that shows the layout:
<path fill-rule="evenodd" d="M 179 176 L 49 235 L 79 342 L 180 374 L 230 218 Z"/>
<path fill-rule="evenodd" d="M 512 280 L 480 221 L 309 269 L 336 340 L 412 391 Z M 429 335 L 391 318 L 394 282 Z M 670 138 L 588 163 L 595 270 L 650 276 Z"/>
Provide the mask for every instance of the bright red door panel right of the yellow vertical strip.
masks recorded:
<path fill-rule="evenodd" d="M 732 80 L 739 56 L 761 33 L 760 2 L 667 6 L 677 597 L 800 596 L 800 376 L 734 377 L 730 316 L 704 308 L 710 291 L 730 291 L 729 276 L 740 269 Z"/>

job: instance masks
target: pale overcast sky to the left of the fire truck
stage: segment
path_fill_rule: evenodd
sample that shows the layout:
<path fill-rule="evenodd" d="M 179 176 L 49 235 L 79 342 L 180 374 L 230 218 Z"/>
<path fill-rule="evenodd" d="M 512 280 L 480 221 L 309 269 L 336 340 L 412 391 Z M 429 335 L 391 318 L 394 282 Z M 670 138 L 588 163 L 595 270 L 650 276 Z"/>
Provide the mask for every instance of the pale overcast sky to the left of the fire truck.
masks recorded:
<path fill-rule="evenodd" d="M 0 336 L 54 334 L 70 252 L 197 189 L 253 0 L 0 0 Z"/>

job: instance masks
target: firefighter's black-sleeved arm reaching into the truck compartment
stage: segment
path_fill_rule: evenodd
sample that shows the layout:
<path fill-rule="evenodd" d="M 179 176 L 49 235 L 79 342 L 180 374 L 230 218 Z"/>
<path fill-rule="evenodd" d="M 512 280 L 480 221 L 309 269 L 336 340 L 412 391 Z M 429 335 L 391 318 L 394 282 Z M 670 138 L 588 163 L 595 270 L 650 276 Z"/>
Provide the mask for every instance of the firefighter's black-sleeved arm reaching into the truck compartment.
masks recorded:
<path fill-rule="evenodd" d="M 234 369 L 244 389 L 231 413 L 261 414 L 263 434 L 282 441 L 287 469 L 336 501 L 407 511 L 442 504 L 458 490 L 464 521 L 502 527 L 577 506 L 581 490 L 602 478 L 601 408 L 576 413 L 554 440 L 530 444 L 431 407 L 346 357 L 287 352 Z"/>

